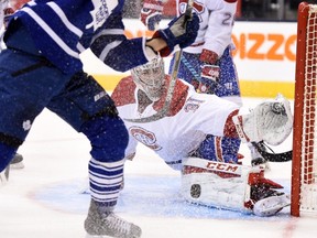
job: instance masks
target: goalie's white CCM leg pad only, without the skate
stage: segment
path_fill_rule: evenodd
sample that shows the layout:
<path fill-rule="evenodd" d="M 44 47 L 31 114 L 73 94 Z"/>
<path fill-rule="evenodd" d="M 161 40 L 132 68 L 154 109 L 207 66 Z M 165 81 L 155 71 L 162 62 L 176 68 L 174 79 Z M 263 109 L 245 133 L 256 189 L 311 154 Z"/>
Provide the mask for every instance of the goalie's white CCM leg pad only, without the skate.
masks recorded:
<path fill-rule="evenodd" d="M 187 158 L 182 174 L 182 195 L 190 203 L 252 213 L 250 174 L 259 167 Z"/>

